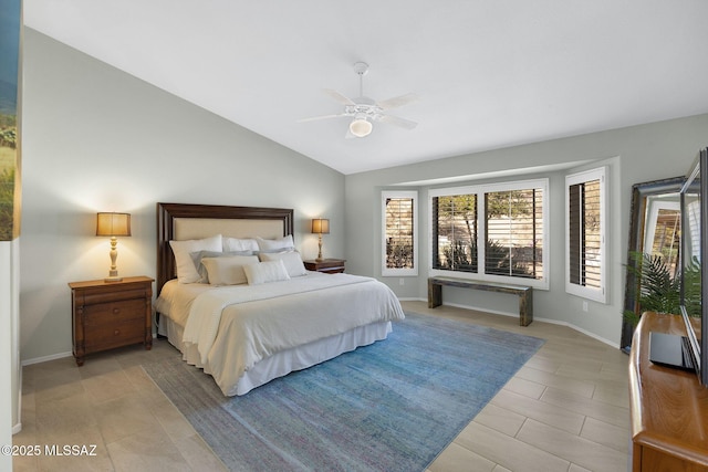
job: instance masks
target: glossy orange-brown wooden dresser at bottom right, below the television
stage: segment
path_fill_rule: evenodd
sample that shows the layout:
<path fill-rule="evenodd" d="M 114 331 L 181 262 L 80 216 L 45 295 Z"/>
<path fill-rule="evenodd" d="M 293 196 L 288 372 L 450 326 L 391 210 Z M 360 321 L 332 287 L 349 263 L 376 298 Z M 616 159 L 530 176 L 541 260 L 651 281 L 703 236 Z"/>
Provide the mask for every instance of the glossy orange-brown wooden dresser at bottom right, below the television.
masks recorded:
<path fill-rule="evenodd" d="M 708 388 L 696 374 L 649 361 L 649 333 L 685 335 L 678 315 L 645 313 L 632 340 L 632 470 L 708 471 Z"/>

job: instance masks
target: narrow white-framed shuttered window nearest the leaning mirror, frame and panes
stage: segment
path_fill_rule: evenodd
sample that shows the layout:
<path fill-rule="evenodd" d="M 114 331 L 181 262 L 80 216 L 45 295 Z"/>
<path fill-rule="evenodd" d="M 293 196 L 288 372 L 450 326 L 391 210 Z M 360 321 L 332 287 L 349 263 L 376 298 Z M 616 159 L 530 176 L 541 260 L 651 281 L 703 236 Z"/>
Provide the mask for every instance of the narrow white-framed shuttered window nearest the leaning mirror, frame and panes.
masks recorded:
<path fill-rule="evenodd" d="M 565 291 L 605 302 L 605 168 L 565 177 Z"/>

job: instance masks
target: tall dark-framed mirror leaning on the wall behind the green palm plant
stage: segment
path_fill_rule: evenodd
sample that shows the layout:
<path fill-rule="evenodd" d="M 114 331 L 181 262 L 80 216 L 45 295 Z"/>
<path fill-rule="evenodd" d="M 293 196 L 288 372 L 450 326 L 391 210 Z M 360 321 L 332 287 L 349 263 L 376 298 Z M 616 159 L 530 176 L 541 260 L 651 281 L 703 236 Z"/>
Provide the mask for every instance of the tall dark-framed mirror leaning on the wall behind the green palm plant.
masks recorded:
<path fill-rule="evenodd" d="M 636 268 L 632 253 L 660 253 L 669 268 L 678 263 L 678 225 L 680 224 L 679 191 L 685 177 L 635 183 L 632 186 L 632 208 L 629 242 L 627 244 L 627 266 Z M 624 311 L 638 311 L 638 287 L 641 281 L 635 271 L 626 270 Z M 622 321 L 622 349 L 629 352 L 635 325 L 626 317 Z"/>

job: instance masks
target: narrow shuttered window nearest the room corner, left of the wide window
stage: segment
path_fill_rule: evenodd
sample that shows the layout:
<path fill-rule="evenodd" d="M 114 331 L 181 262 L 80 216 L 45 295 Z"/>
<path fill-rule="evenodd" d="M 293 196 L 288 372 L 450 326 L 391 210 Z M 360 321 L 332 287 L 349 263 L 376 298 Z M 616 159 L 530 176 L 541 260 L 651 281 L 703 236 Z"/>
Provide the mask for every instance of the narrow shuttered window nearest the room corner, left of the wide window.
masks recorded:
<path fill-rule="evenodd" d="M 382 275 L 418 275 L 417 191 L 384 191 Z"/>

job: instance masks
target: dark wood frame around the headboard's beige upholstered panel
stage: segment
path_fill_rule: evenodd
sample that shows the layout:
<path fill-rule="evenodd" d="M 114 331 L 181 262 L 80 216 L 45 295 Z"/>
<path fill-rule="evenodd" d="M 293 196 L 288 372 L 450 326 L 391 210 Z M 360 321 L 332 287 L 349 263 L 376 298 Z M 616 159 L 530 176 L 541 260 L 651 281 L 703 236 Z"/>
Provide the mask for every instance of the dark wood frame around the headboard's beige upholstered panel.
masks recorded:
<path fill-rule="evenodd" d="M 167 281 L 176 276 L 175 256 L 169 241 L 176 239 L 175 220 L 185 218 L 200 220 L 279 220 L 282 222 L 282 235 L 293 234 L 292 209 L 157 203 L 157 294 L 159 294 Z M 238 234 L 236 235 L 238 237 Z M 257 235 L 260 234 L 249 234 L 251 238 Z"/>

